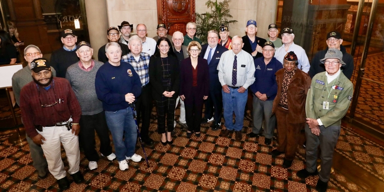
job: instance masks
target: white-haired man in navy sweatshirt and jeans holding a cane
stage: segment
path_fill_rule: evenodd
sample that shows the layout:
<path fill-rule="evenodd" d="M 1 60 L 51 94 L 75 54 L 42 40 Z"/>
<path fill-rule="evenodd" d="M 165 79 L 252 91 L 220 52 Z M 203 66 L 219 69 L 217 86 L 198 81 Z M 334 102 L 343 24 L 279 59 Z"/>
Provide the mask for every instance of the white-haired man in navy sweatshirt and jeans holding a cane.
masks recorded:
<path fill-rule="evenodd" d="M 108 62 L 96 74 L 96 94 L 103 102 L 119 168 L 124 171 L 128 169 L 126 160 L 141 160 L 141 156 L 134 153 L 137 132 L 130 109 L 130 104 L 141 94 L 141 81 L 134 68 L 121 61 L 122 51 L 117 42 L 107 43 L 105 50 Z"/>

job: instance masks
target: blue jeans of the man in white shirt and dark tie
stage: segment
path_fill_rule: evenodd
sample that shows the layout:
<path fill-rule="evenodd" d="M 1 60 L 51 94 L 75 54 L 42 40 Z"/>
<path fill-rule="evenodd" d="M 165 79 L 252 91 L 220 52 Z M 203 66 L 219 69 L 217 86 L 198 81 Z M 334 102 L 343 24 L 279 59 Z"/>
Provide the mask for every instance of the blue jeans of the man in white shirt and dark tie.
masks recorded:
<path fill-rule="evenodd" d="M 241 131 L 244 125 L 244 110 L 248 100 L 248 89 L 243 93 L 237 92 L 237 89 L 229 88 L 229 93 L 221 90 L 223 94 L 224 120 L 225 127 L 228 130 Z M 235 123 L 233 124 L 233 112 Z"/>

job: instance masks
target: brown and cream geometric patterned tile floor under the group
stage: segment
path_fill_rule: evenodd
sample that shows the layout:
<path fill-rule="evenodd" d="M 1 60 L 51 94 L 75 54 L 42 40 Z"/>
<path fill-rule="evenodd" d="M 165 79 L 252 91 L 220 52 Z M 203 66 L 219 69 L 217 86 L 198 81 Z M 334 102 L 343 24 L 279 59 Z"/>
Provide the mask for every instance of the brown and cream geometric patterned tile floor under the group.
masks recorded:
<path fill-rule="evenodd" d="M 155 114 L 155 113 L 154 113 Z M 176 112 L 178 114 L 178 110 Z M 81 153 L 80 171 L 85 181 L 71 184 L 67 191 L 315 191 L 318 176 L 300 179 L 296 172 L 305 166 L 305 149 L 299 147 L 293 165 L 282 167 L 283 155 L 272 158 L 275 149 L 264 143 L 264 137 L 249 138 L 249 116 L 244 120 L 243 140 L 234 135 L 220 137 L 220 131 L 212 131 L 209 124 L 202 125 L 202 135 L 188 139 L 186 130 L 176 127 L 177 137 L 173 145 L 163 146 L 157 134 L 157 122 L 151 122 L 153 147 L 145 147 L 149 156 L 149 168 L 142 160 L 129 161 L 129 169 L 121 171 L 118 162 L 99 160 L 97 170 L 88 170 L 88 161 Z M 225 127 L 223 127 L 225 129 Z M 8 136 L 0 136 L 0 189 L 3 191 L 58 191 L 56 179 L 50 174 L 38 179 L 32 166 L 28 145 L 12 145 Z M 100 142 L 97 141 L 97 148 Z M 136 153 L 143 156 L 139 145 Z M 369 174 L 382 179 L 384 174 L 382 146 L 343 127 L 336 153 L 364 167 Z M 65 152 L 62 158 L 68 168 Z M 70 177 L 69 177 L 70 178 Z M 70 178 L 71 179 L 71 178 Z M 331 175 L 328 191 L 364 191 L 360 186 L 339 172 Z"/>

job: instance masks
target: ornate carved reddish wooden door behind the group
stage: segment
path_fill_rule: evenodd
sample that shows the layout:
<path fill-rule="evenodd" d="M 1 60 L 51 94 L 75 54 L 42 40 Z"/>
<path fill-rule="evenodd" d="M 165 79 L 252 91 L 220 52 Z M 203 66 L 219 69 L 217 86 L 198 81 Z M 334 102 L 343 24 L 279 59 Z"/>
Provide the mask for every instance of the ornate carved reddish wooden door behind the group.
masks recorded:
<path fill-rule="evenodd" d="M 195 0 L 157 0 L 158 23 L 166 24 L 168 34 L 186 34 L 186 24 L 195 22 Z"/>

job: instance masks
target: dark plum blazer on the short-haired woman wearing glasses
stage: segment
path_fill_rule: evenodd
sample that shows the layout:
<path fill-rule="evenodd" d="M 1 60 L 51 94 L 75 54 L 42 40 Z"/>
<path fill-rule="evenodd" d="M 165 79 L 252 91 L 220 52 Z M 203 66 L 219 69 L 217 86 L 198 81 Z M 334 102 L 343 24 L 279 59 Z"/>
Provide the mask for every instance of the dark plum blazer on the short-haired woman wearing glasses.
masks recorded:
<path fill-rule="evenodd" d="M 180 93 L 184 95 L 185 99 L 191 98 L 192 96 L 192 62 L 190 57 L 184 59 L 180 65 Z M 203 58 L 198 58 L 198 93 L 199 98 L 203 100 L 204 96 L 209 95 L 209 69 L 208 62 Z"/>

